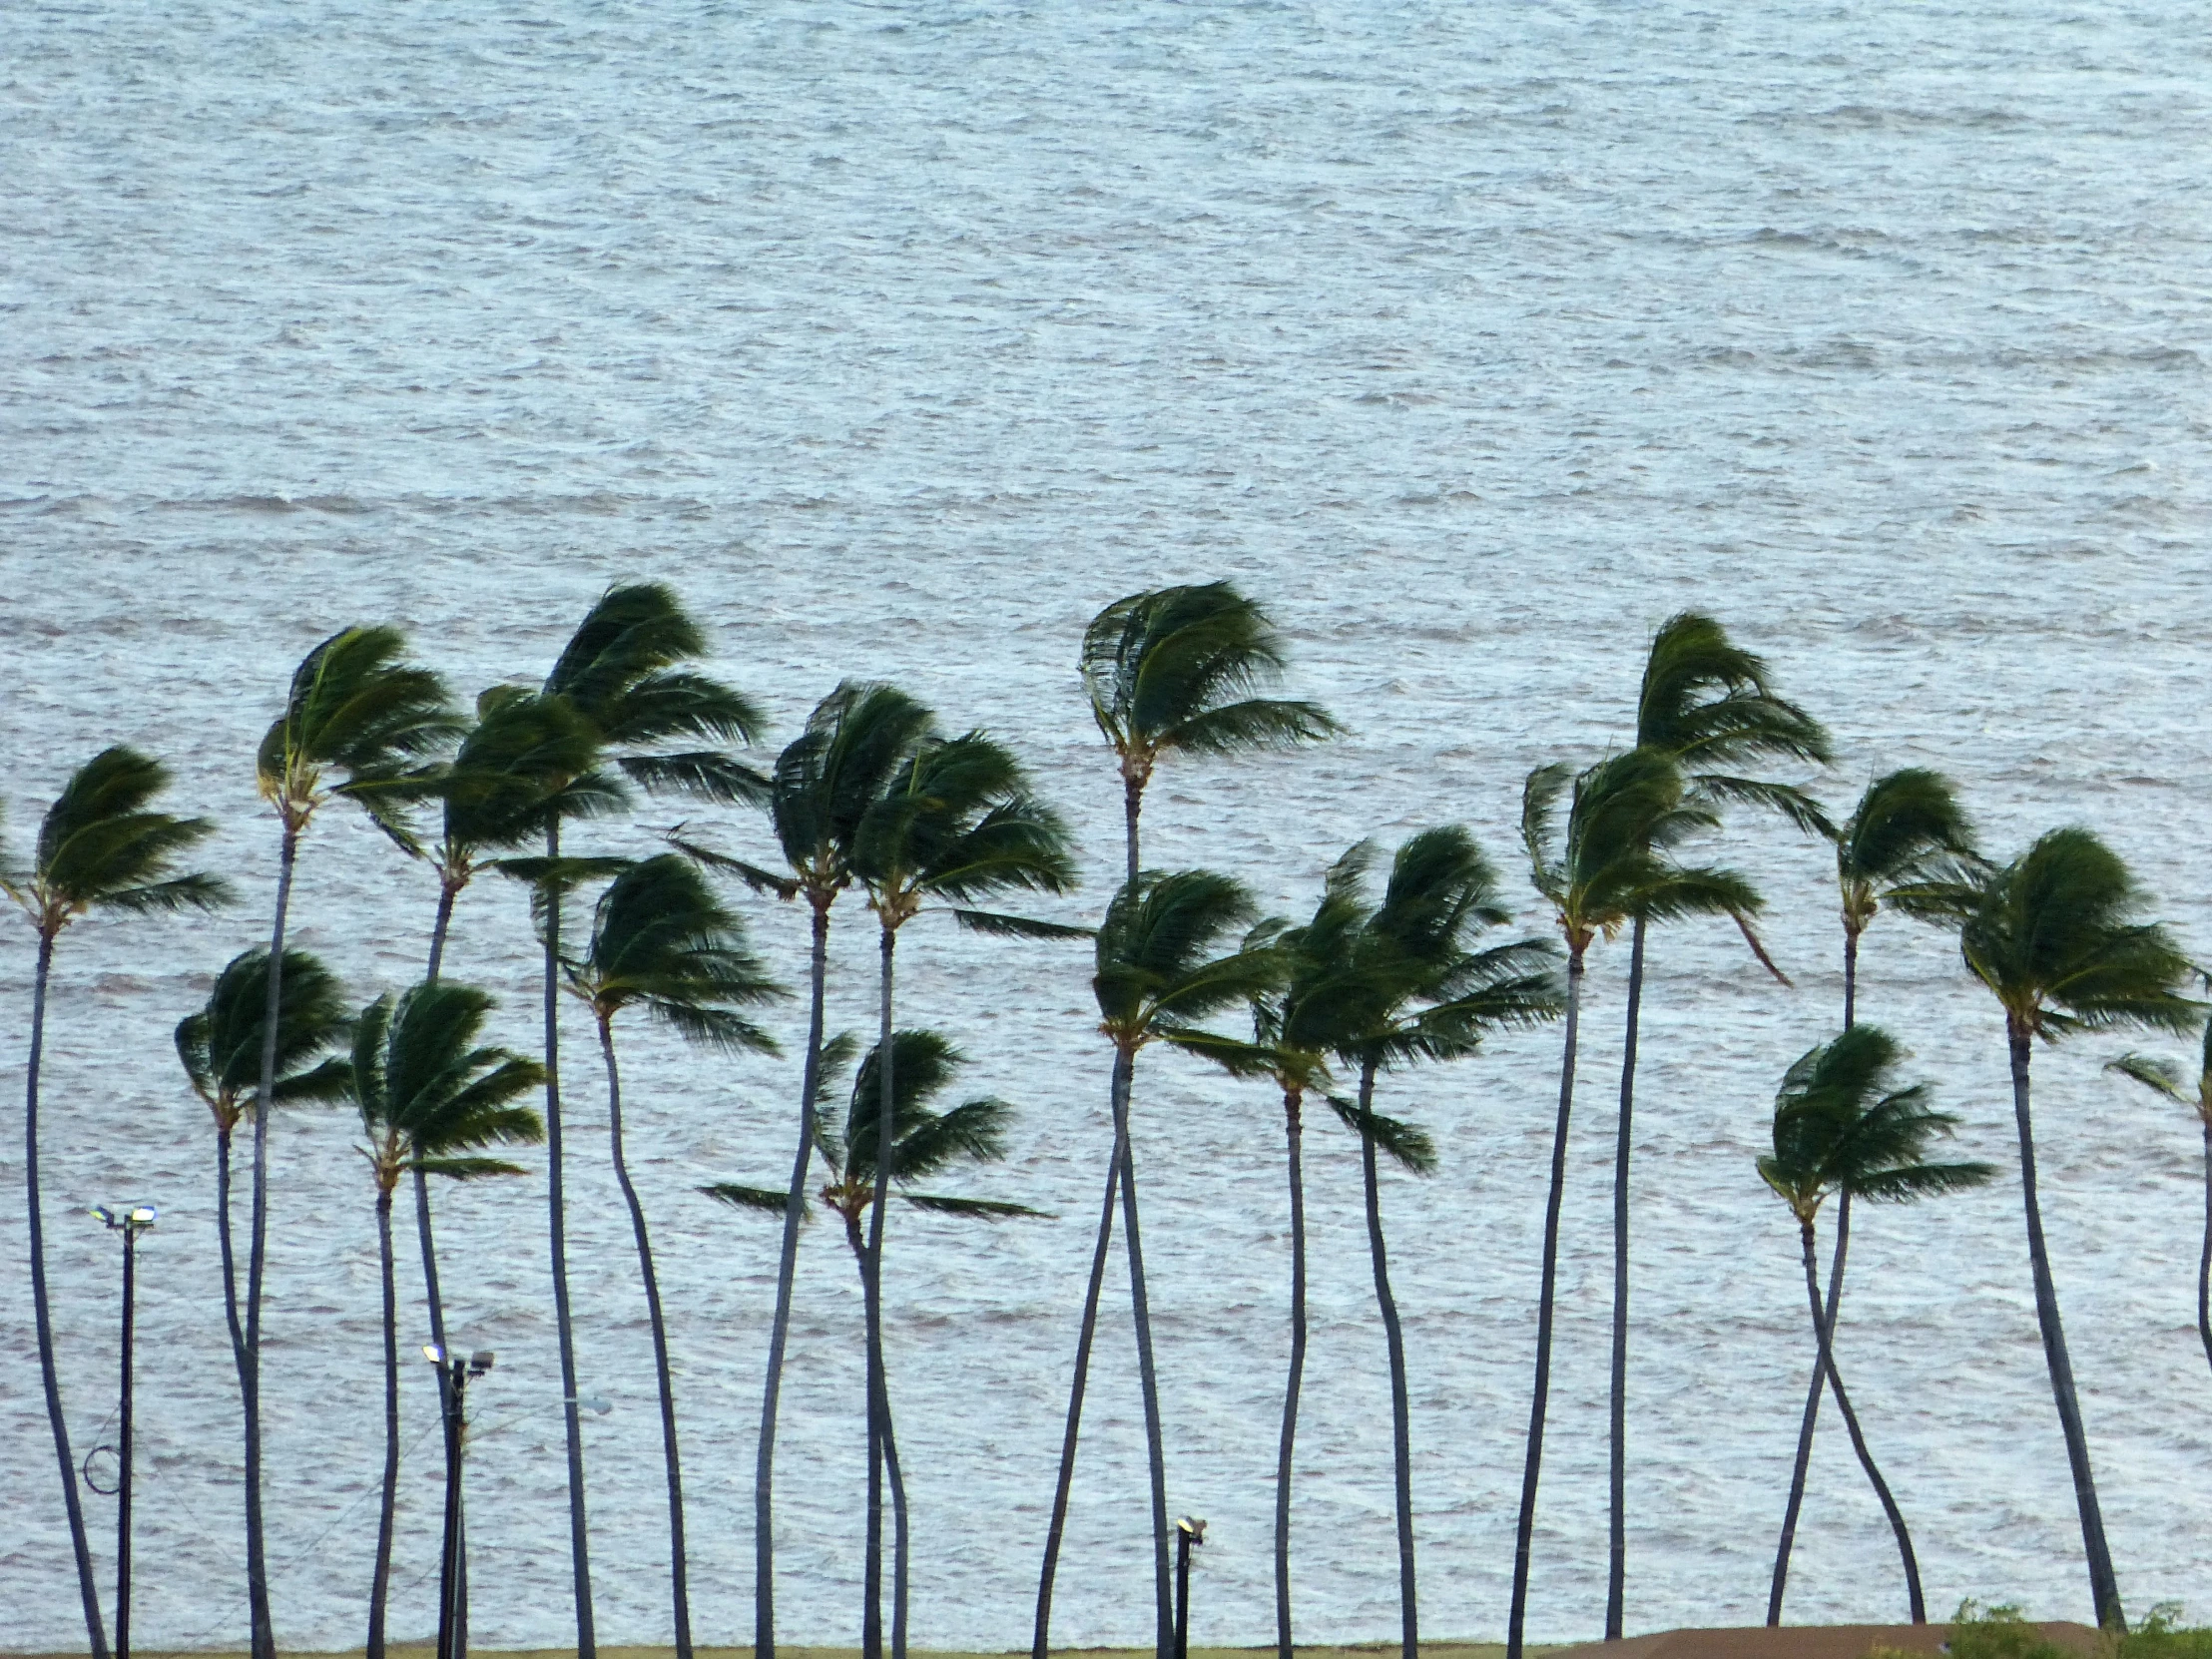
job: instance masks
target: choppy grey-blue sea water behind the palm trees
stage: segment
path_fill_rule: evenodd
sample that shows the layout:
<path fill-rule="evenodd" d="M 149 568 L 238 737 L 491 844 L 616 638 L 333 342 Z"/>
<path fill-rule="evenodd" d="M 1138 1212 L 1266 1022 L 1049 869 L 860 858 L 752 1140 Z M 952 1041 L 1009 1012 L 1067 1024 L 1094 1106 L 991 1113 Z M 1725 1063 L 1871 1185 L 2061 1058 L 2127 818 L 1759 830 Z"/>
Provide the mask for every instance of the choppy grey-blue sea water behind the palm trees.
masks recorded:
<path fill-rule="evenodd" d="M 49 1203 L 69 1411 L 113 1398 L 108 1239 L 144 1197 L 137 1637 L 241 1641 L 237 1409 L 212 1137 L 168 1055 L 263 927 L 252 737 L 325 630 L 398 619 L 453 681 L 538 677 L 602 584 L 664 575 L 779 741 L 887 675 L 1015 741 L 1088 836 L 1117 794 L 1073 684 L 1082 622 L 1228 575 L 1354 728 L 1325 752 L 1172 768 L 1150 860 L 1272 902 L 1363 834 L 1475 823 L 1522 772 L 1619 741 L 1650 626 L 1717 608 L 1840 739 L 1823 787 L 1936 763 L 2011 849 L 2064 821 L 2137 860 L 2197 949 L 2208 237 L 2203 4 L 301 4 L 18 0 L 0 51 L 0 639 L 11 845 L 66 768 L 128 739 L 223 818 L 248 902 L 95 922 L 51 1022 Z M 666 823 L 677 810 L 648 812 Z M 757 827 L 717 821 L 732 847 Z M 1823 854 L 1743 825 L 1796 991 L 1728 929 L 1666 933 L 1635 1232 L 1630 1624 L 1756 1621 L 1807 1363 L 1796 1243 L 1752 1175 L 1781 1066 L 1836 1018 Z M 361 823 L 307 847 L 296 940 L 365 1000 L 418 973 L 431 887 Z M 754 907 L 796 980 L 801 920 Z M 1533 918 L 1531 918 L 1533 920 Z M 29 936 L 4 958 L 20 1084 Z M 1024 1106 L 969 1190 L 1057 1210 L 900 1217 L 891 1363 L 918 1646 L 1026 1641 L 1073 1307 L 1106 1150 L 1075 951 L 916 933 L 907 1011 Z M 832 1015 L 872 1020 L 858 911 Z M 449 971 L 531 1040 L 511 894 L 471 891 Z M 1606 1159 L 1619 953 L 1586 1026 L 1535 1635 L 1604 1597 Z M 1997 1022 L 1889 922 L 1867 1013 L 2013 1168 Z M 783 1029 L 799 1035 L 796 1018 Z M 573 1033 L 582 1037 L 582 1031 Z M 2053 1250 L 2132 1608 L 2212 1615 L 2212 1380 L 2192 1332 L 2194 1124 L 2039 1057 Z M 672 1296 L 697 1626 L 750 1630 L 750 1471 L 772 1223 L 701 1179 L 776 1179 L 790 1062 L 630 1037 L 633 1146 Z M 1557 1035 L 1394 1082 L 1444 1170 L 1391 1179 L 1413 1360 L 1425 1626 L 1504 1626 Z M 593 1075 L 575 1261 L 599 1628 L 666 1639 L 644 1310 Z M 1172 1502 L 1214 1531 L 1203 1641 L 1272 1632 L 1285 1354 L 1274 1104 L 1164 1060 L 1139 1097 Z M 281 1635 L 361 1639 L 376 1475 L 367 1183 L 338 1117 L 276 1135 L 268 1349 Z M 1356 1161 L 1312 1137 L 1314 1349 L 1298 1617 L 1383 1637 L 1396 1593 L 1383 1340 Z M 0 1245 L 22 1261 L 22 1166 Z M 2086 1615 L 2017 1183 L 1867 1214 L 1843 1360 L 1918 1524 L 1929 1597 Z M 566 1621 L 540 1179 L 442 1201 L 462 1340 L 495 1347 L 473 1453 L 476 1635 Z M 69 1646 L 22 1267 L 0 1367 L 4 1641 Z M 1117 1307 L 1121 1307 L 1117 1303 Z M 416 1316 L 418 1318 L 418 1316 Z M 416 1336 L 414 1329 L 407 1336 Z M 785 1391 L 792 1639 L 858 1621 L 858 1296 L 807 1252 Z M 409 1380 L 396 1628 L 429 1630 L 434 1409 Z M 1150 1630 L 1126 1316 L 1108 1325 L 1062 1575 L 1068 1641 Z M 491 1431 L 495 1427 L 495 1431 Z M 111 1509 L 91 1504 L 106 1557 Z M 1814 1469 L 1794 1617 L 1900 1617 L 1840 1440 Z"/>

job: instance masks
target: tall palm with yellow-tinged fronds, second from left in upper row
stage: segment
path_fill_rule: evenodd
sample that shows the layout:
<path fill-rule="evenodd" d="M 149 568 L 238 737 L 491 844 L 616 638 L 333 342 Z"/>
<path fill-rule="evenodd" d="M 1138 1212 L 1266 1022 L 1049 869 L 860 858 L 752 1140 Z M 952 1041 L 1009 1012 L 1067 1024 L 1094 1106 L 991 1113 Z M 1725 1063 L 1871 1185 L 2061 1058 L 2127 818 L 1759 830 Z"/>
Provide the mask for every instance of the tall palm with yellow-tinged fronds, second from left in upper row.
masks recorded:
<path fill-rule="evenodd" d="M 283 936 L 292 909 L 299 843 L 330 801 L 352 801 L 411 845 L 403 814 L 429 781 L 425 765 L 460 721 L 445 684 L 405 661 L 398 628 L 345 628 L 310 650 L 292 672 L 283 712 L 254 754 L 261 799 L 281 830 L 276 916 L 270 927 L 268 1009 L 261 1024 L 261 1079 L 254 1091 L 252 1221 L 246 1243 L 246 1349 L 239 1394 L 246 1405 L 246 1593 L 252 1659 L 276 1659 L 270 1624 L 268 1546 L 261 1522 L 261 1279 L 268 1263 L 268 1108 L 276 1095 L 276 1037 L 283 1026 Z"/>

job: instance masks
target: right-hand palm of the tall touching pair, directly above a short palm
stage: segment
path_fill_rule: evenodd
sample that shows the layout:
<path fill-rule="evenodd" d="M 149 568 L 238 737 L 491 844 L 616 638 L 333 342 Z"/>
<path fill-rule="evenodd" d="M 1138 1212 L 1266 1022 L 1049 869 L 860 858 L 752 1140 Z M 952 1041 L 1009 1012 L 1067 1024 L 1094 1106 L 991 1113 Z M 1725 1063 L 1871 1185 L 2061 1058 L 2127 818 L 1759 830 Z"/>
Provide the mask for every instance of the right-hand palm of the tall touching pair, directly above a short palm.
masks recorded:
<path fill-rule="evenodd" d="M 894 964 L 898 931 L 938 900 L 964 927 L 987 933 L 1042 938 L 1084 936 L 1084 929 L 967 909 L 978 898 L 1006 891 L 1062 894 L 1075 885 L 1075 856 L 1060 814 L 1029 792 L 1029 776 L 1013 752 L 982 732 L 922 734 L 898 772 L 887 779 L 854 836 L 854 876 L 867 887 L 878 929 L 876 1073 L 876 1199 L 867 1219 L 867 1367 L 869 1402 L 889 1400 L 883 1369 L 883 1221 L 889 1208 L 896 1133 L 898 1046 L 891 1042 Z M 883 1652 L 883 1427 L 869 1436 L 869 1504 L 865 1606 L 860 1650 Z M 898 1515 L 891 1586 L 891 1648 L 907 1659 L 907 1524 Z"/>

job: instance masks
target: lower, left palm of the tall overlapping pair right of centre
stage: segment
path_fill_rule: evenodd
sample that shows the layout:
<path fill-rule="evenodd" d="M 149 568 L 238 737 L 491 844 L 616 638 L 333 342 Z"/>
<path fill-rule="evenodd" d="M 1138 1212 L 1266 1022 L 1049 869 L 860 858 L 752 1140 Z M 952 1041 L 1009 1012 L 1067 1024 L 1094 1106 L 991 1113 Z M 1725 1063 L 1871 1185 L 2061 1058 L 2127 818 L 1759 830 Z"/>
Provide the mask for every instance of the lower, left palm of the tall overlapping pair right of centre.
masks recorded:
<path fill-rule="evenodd" d="M 1568 796 L 1566 823 L 1559 799 Z M 1535 1385 L 1528 1400 L 1528 1442 L 1522 1464 L 1520 1517 L 1513 1531 L 1513 1601 L 1506 1617 L 1506 1657 L 1522 1659 L 1528 1617 L 1528 1568 L 1535 1540 L 1535 1498 L 1544 1467 L 1544 1418 L 1551 1405 L 1551 1343 L 1559 1279 L 1559 1208 L 1566 1197 L 1566 1137 L 1575 1110 L 1575 1055 L 1582 1026 L 1582 982 L 1588 951 L 1637 918 L 1728 914 L 1756 905 L 1728 869 L 1683 867 L 1668 856 L 1699 830 L 1710 830 L 1708 805 L 1686 801 L 1681 768 L 1657 750 L 1628 750 L 1584 772 L 1540 765 L 1522 787 L 1522 845 L 1528 878 L 1551 905 L 1566 940 L 1566 1042 L 1559 1055 L 1559 1119 L 1551 1139 L 1551 1190 L 1544 1201 L 1544 1270 L 1535 1321 Z"/>

